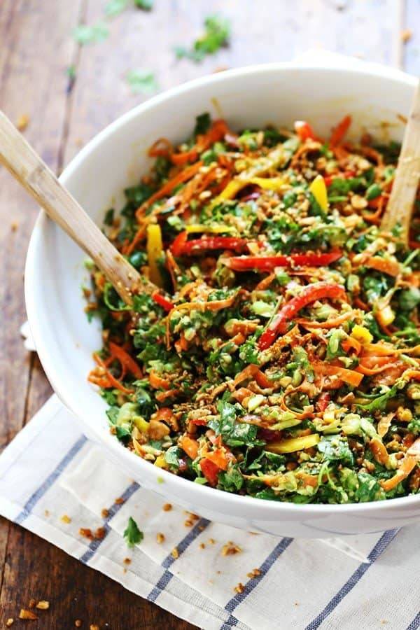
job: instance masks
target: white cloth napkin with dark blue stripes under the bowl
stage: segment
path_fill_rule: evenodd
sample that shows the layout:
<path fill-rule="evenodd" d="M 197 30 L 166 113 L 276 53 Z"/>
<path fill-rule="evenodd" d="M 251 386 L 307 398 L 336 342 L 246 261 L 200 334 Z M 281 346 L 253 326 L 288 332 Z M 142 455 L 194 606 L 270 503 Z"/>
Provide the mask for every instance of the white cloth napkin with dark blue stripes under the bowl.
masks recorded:
<path fill-rule="evenodd" d="M 164 504 L 106 461 L 55 395 L 0 456 L 0 514 L 204 629 L 420 626 L 420 525 L 279 539 Z M 123 538 L 129 517 L 144 533 L 134 549 Z M 225 545 L 239 552 L 223 554 Z"/>

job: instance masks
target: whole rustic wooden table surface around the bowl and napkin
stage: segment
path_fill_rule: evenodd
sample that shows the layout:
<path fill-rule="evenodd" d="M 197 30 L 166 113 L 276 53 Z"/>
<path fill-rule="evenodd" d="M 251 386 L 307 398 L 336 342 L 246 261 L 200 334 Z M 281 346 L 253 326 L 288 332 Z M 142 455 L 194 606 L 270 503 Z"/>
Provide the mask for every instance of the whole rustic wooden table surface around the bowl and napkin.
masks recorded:
<path fill-rule="evenodd" d="M 15 122 L 29 116 L 25 135 L 56 172 L 146 98 L 130 93 L 125 75 L 131 69 L 153 70 L 165 90 L 222 67 L 288 60 L 316 47 L 420 73 L 420 0 L 155 0 L 148 13 L 130 0 L 108 20 L 106 41 L 80 47 L 73 29 L 105 20 L 106 1 L 0 0 L 0 107 Z M 232 20 L 230 47 L 201 64 L 176 60 L 174 45 L 192 42 L 205 16 L 216 12 Z M 406 29 L 409 38 L 402 36 Z M 3 169 L 0 213 L 2 449 L 51 388 L 19 333 L 25 253 L 37 209 Z M 48 614 L 19 621 L 32 597 L 50 601 Z M 82 628 L 193 628 L 0 519 L 0 626 L 8 617 L 16 619 L 13 627 L 34 629 L 71 628 L 75 619 L 83 620 Z"/>

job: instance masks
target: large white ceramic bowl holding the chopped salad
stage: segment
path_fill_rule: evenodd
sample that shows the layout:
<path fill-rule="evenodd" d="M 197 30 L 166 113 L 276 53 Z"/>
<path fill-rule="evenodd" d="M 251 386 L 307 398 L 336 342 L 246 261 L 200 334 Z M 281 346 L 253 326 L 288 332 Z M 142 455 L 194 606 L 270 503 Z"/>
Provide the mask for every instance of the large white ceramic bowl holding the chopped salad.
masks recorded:
<path fill-rule="evenodd" d="M 176 87 L 125 114 L 95 137 L 65 169 L 61 181 L 97 223 L 123 201 L 123 188 L 148 171 L 146 151 L 158 137 L 182 141 L 195 116 L 210 111 L 235 128 L 309 120 L 328 136 L 345 113 L 351 132 L 401 139 L 414 78 L 386 69 L 270 64 L 206 76 Z M 381 123 L 388 123 L 382 125 Z M 420 519 L 420 495 L 379 503 L 293 505 L 201 486 L 135 456 L 110 435 L 106 405 L 87 382 L 92 351 L 101 346 L 97 323 L 87 323 L 80 285 L 83 252 L 41 213 L 31 237 L 25 293 L 31 332 L 48 379 L 64 405 L 130 477 L 204 517 L 274 535 L 329 537 L 384 531 Z M 163 482 L 158 482 L 158 477 Z"/>

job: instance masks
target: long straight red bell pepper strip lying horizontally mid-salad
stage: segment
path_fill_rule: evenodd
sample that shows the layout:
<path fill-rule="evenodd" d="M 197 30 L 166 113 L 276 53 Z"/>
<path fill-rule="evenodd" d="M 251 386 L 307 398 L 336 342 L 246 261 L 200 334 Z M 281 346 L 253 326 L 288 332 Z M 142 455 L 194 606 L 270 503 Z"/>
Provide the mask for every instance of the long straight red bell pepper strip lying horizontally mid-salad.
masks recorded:
<path fill-rule="evenodd" d="M 225 264 L 234 271 L 248 271 L 249 269 L 272 271 L 276 267 L 324 267 L 341 257 L 342 251 L 334 249 L 325 253 L 311 252 L 289 256 L 233 256 L 227 258 Z"/>

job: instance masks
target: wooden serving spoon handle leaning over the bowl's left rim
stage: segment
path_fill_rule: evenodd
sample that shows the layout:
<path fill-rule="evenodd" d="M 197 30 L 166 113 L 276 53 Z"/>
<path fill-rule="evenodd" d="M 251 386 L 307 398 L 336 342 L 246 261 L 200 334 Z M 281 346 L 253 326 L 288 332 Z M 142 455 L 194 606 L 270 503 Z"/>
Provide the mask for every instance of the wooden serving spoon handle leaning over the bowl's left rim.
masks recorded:
<path fill-rule="evenodd" d="M 39 155 L 0 111 L 0 163 L 105 274 L 126 304 L 133 293 L 158 290 L 116 250 Z"/>

